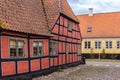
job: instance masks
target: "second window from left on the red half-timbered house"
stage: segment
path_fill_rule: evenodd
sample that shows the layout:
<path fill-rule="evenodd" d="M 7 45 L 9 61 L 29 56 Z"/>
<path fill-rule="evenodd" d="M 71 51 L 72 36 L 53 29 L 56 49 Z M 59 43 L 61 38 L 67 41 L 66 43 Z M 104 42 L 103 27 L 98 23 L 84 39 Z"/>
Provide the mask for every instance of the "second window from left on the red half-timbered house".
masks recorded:
<path fill-rule="evenodd" d="M 43 55 L 43 41 L 33 42 L 33 56 L 42 56 Z"/>

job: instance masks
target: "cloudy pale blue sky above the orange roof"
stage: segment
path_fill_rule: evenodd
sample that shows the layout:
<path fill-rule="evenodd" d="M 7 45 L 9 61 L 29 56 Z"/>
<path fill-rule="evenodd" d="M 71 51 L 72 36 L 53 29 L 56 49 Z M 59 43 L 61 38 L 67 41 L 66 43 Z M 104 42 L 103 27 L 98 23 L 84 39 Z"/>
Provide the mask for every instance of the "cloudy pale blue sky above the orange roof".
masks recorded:
<path fill-rule="evenodd" d="M 67 0 L 76 15 L 93 13 L 120 12 L 120 0 Z"/>

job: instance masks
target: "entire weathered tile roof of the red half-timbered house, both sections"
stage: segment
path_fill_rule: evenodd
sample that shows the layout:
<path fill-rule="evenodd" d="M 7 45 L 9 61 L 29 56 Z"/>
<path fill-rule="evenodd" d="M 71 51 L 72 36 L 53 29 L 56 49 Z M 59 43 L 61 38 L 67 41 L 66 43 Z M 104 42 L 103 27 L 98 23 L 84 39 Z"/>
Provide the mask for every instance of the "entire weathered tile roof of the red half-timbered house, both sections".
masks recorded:
<path fill-rule="evenodd" d="M 0 26 L 7 30 L 49 36 L 60 13 L 78 22 L 66 0 L 0 0 Z"/>

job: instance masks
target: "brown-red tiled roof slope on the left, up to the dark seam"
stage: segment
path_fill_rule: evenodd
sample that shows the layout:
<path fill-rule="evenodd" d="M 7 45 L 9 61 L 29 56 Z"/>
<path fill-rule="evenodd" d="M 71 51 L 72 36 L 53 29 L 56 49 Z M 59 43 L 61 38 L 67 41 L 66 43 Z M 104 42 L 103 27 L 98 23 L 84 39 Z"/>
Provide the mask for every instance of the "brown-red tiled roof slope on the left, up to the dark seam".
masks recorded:
<path fill-rule="evenodd" d="M 0 0 L 0 24 L 7 30 L 50 35 L 41 0 Z"/>

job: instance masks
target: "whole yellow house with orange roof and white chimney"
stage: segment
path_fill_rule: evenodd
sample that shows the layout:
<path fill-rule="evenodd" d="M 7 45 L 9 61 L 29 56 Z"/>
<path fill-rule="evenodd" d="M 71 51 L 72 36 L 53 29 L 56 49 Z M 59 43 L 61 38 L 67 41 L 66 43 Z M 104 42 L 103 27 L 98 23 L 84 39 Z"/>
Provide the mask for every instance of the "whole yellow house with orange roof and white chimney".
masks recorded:
<path fill-rule="evenodd" d="M 86 58 L 120 59 L 120 12 L 78 15 L 81 53 Z"/>

